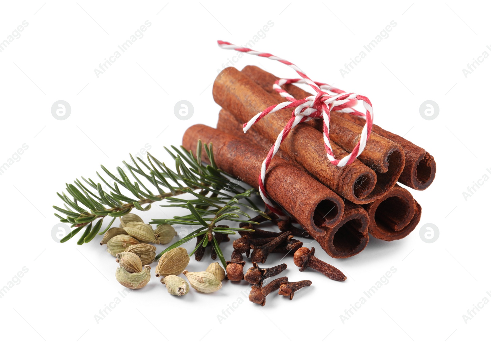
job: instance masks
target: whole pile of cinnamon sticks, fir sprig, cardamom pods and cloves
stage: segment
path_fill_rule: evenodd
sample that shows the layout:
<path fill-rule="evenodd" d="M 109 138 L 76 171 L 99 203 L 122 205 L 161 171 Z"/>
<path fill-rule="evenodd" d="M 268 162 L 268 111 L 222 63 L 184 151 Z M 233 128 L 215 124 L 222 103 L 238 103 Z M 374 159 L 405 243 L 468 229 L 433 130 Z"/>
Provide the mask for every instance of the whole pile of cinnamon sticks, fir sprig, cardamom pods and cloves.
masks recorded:
<path fill-rule="evenodd" d="M 229 43 L 222 42 L 222 45 Z M 248 129 L 247 138 L 243 136 L 243 123 L 272 104 L 283 102 L 284 97 L 306 101 L 306 97 L 312 96 L 292 84 L 300 79 L 281 84 L 277 80 L 256 66 L 246 66 L 242 71 L 227 67 L 221 71 L 213 84 L 213 97 L 222 107 L 217 128 L 192 125 L 183 135 L 181 151 L 176 147 L 172 147 L 174 152 L 166 149 L 175 159 L 175 172 L 149 154 L 148 164 L 138 158 L 150 171 L 148 174 L 133 157 L 135 167 L 125 162 L 136 179 L 134 184 L 123 169 L 118 167 L 119 179 L 102 166 L 114 180 L 112 187 L 99 175 L 111 189 L 110 194 L 90 179 L 82 178 L 95 193 L 79 180 L 75 185 L 67 184 L 73 201 L 65 193 L 58 193 L 66 209 L 55 209 L 66 215 L 66 219 L 55 215 L 62 222 L 72 223 L 75 229 L 61 242 L 82 228 L 85 230 L 78 244 L 89 242 L 100 231 L 102 219 L 110 216 L 112 221 L 99 233 L 103 235 L 100 244 L 106 245 L 107 251 L 116 257 L 119 264 L 116 281 L 122 285 L 132 289 L 144 287 L 151 279 L 149 264 L 157 261 L 155 276 L 161 278 L 171 295 L 184 296 L 190 292 L 190 286 L 200 293 L 213 293 L 224 283 L 245 280 L 251 287 L 249 300 L 264 306 L 272 292 L 278 291 L 292 300 L 296 292 L 312 284 L 309 280 L 289 281 L 287 276 L 266 283 L 267 279 L 288 271 L 286 263 L 264 266 L 274 253 L 290 259 L 299 271 L 315 270 L 330 280 L 346 281 L 343 272 L 316 257 L 315 249 L 303 247 L 297 238 L 314 239 L 329 256 L 347 258 L 367 246 L 369 233 L 376 240 L 384 241 L 408 236 L 421 218 L 421 206 L 397 182 L 416 190 L 428 188 L 436 174 L 433 156 L 401 136 L 373 125 L 373 132 L 357 158 L 337 166 L 330 163 L 325 153 L 323 122 L 304 120 L 281 137 L 281 147 L 275 147 L 276 155 L 267 154 L 278 132 L 283 134 L 285 124 L 293 121 L 291 110 L 282 109 L 274 116 L 259 117 L 260 121 Z M 346 107 L 352 105 L 350 102 Z M 339 108 L 340 105 L 335 107 Z M 329 139 L 336 158 L 358 152 L 356 142 L 363 135 L 363 125 L 364 119 L 343 111 L 330 113 Z M 212 142 L 218 147 L 215 152 Z M 265 159 L 267 168 L 263 166 Z M 141 180 L 151 183 L 158 194 L 152 193 L 134 172 Z M 229 176 L 253 189 L 239 184 L 230 186 Z M 124 195 L 120 187 L 136 198 Z M 261 195 L 268 194 L 267 199 L 263 198 L 266 204 L 261 207 L 248 198 L 254 189 Z M 178 196 L 184 194 L 188 197 Z M 162 200 L 168 202 L 167 207 L 189 210 L 189 215 L 145 223 L 131 213 L 133 208 L 146 211 L 153 202 Z M 283 214 L 277 211 L 279 208 Z M 246 209 L 257 216 L 251 219 L 244 212 Z M 115 218 L 119 218 L 120 225 L 111 227 Z M 224 220 L 239 224 L 218 224 Z M 274 224 L 279 231 L 261 229 L 261 223 Z M 157 227 L 154 229 L 152 224 Z M 177 235 L 173 224 L 197 229 L 170 244 Z M 229 237 L 235 234 L 240 237 Z M 193 239 L 196 244 L 191 252 L 181 247 Z M 228 245 L 233 252 L 230 260 L 225 260 L 220 244 L 231 241 Z M 156 254 L 154 245 L 167 244 L 170 245 Z M 188 271 L 190 256 L 200 261 L 207 248 L 210 248 L 209 256 L 213 260 L 218 258 L 219 262 L 211 263 L 204 271 Z"/>

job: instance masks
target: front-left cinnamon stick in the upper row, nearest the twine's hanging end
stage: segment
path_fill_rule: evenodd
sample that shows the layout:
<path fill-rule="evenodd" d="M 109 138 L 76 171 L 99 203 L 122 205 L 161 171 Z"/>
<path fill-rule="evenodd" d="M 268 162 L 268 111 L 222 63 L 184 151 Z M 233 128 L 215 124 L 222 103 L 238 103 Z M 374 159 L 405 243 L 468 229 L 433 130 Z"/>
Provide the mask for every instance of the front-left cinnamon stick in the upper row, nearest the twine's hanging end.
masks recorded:
<path fill-rule="evenodd" d="M 213 97 L 218 105 L 243 123 L 275 103 L 270 94 L 234 67 L 225 68 L 215 79 Z M 261 135 L 275 141 L 290 118 L 289 110 L 280 110 L 264 117 L 254 127 Z M 331 146 L 337 158 L 347 155 L 336 144 Z M 375 172 L 357 159 L 343 167 L 331 164 L 322 133 L 305 123 L 293 128 L 281 147 L 321 183 L 357 204 L 372 202 L 392 187 L 385 179 L 377 183 Z"/>

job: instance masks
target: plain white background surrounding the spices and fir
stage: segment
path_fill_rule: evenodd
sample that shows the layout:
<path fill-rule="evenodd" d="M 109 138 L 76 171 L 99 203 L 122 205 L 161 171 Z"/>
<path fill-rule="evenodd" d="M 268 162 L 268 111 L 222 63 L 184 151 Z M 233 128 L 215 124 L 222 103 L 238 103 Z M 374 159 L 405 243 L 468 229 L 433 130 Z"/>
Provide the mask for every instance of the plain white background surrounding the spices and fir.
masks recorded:
<path fill-rule="evenodd" d="M 483 298 L 491 300 L 486 294 L 491 293 L 491 182 L 466 200 L 463 192 L 484 174 L 491 176 L 486 170 L 491 168 L 491 121 L 485 107 L 491 58 L 467 77 L 463 68 L 484 51 L 491 53 L 486 48 L 491 44 L 489 10 L 484 2 L 471 1 L 2 3 L 0 40 L 28 23 L 0 53 L 0 164 L 23 144 L 28 146 L 0 175 L 0 287 L 16 282 L 0 299 L 2 341 L 484 340 L 491 305 L 480 304 L 484 307 L 467 323 L 463 315 Z M 97 77 L 99 63 L 145 21 L 151 26 L 144 36 Z M 263 38 L 254 49 L 298 64 L 314 80 L 367 95 L 376 124 L 406 135 L 435 156 L 433 185 L 412 190 L 423 207 L 420 224 L 404 240 L 371 238 L 364 251 L 344 260 L 306 243 L 348 280 L 300 273 L 287 257 L 288 269 L 281 276 L 313 281 L 293 301 L 271 294 L 265 307 L 252 304 L 245 281 L 224 282 L 214 294 L 191 290 L 177 298 L 155 277 L 122 298 L 118 292 L 124 288 L 114 278 L 117 264 L 99 246 L 100 237 L 83 246 L 76 245 L 78 239 L 58 244 L 52 238 L 58 223 L 52 206 L 62 206 L 56 192 L 80 176 L 96 180 L 100 164 L 114 170 L 145 144 L 154 156 L 164 158 L 162 147 L 179 145 L 190 125 L 215 126 L 219 107 L 212 82 L 222 63 L 236 55 L 218 49 L 216 40 L 243 45 L 269 21 L 273 27 L 266 35 L 260 33 Z M 389 36 L 343 78 L 340 68 L 391 21 L 397 25 Z M 287 66 L 254 56 L 235 66 L 247 64 L 297 77 Z M 194 106 L 187 121 L 173 110 L 183 99 Z M 57 100 L 71 105 L 68 119 L 52 116 Z M 435 120 L 419 113 L 426 100 L 439 105 Z M 172 212 L 154 206 L 139 215 L 147 221 L 164 218 L 161 209 Z M 439 228 L 436 242 L 420 238 L 424 223 Z M 231 245 L 222 247 L 230 256 Z M 280 258 L 272 256 L 266 265 Z M 210 262 L 191 258 L 188 269 L 204 270 Z M 17 280 L 14 276 L 23 267 L 28 272 Z M 340 315 L 391 267 L 397 272 L 388 283 L 343 323 Z M 121 302 L 97 323 L 94 316 L 117 297 Z M 244 302 L 233 304 L 239 299 Z M 222 310 L 235 306 L 225 320 L 218 320 Z"/>

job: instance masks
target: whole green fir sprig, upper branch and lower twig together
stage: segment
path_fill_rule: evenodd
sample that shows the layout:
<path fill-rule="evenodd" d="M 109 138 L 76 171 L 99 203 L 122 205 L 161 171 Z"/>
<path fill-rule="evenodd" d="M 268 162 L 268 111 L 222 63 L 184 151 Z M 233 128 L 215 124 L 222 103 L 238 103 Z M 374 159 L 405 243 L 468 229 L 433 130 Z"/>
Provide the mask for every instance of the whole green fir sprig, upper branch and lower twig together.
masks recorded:
<path fill-rule="evenodd" d="M 123 168 L 116 167 L 117 174 L 119 175 L 118 178 L 101 165 L 102 170 L 113 181 L 114 184 L 111 185 L 96 172 L 102 183 L 109 188 L 109 192 L 103 189 L 101 183 L 95 183 L 90 178 L 85 179 L 82 177 L 84 183 L 76 179 L 74 184 L 66 184 L 68 194 L 64 192 L 61 194 L 57 193 L 64 202 L 64 208 L 54 206 L 65 217 L 56 213 L 55 216 L 61 222 L 71 223 L 71 227 L 74 229 L 61 239 L 60 242 L 68 241 L 85 228 L 78 244 L 88 243 L 99 233 L 102 227 L 102 221 L 106 216 L 112 217 L 113 219 L 106 229 L 99 234 L 104 234 L 117 217 L 130 213 L 134 208 L 140 211 L 147 211 L 150 209 L 152 203 L 164 199 L 170 202 L 169 207 L 186 207 L 191 211 L 191 214 L 174 219 L 154 219 L 151 223 L 186 222 L 186 224 L 190 225 L 202 225 L 203 228 L 195 231 L 196 233 L 205 230 L 205 228 L 210 233 L 216 232 L 218 229 L 215 229 L 215 226 L 218 221 L 225 219 L 237 220 L 239 214 L 250 218 L 246 213 L 238 211 L 237 204 L 239 204 L 238 199 L 240 198 L 245 198 L 248 203 L 248 205 L 243 203 L 243 206 L 268 217 L 248 199 L 253 189 L 246 190 L 238 185 L 238 183 L 237 185 L 230 183 L 229 176 L 217 168 L 211 143 L 208 147 L 208 145 L 203 145 L 201 141 L 198 141 L 196 156 L 193 156 L 191 151 L 187 151 L 182 146 L 181 150 L 174 146 L 171 146 L 171 148 L 172 151 L 164 147 L 167 153 L 175 160 L 175 171 L 171 170 L 164 162 L 158 160 L 150 153 L 147 153 L 148 163 L 136 157 L 138 162 L 146 169 L 144 171 L 133 156 L 130 155 L 133 165 L 128 164 L 126 161 L 123 161 L 123 164 L 131 176 Z M 203 163 L 201 159 L 202 148 L 206 152 L 207 160 L 210 161 L 209 164 Z M 143 183 L 142 180 L 146 183 Z M 131 196 L 124 194 L 121 190 L 131 194 Z M 184 193 L 191 193 L 195 196 L 195 199 L 184 200 L 175 197 Z M 188 206 L 188 202 L 190 206 Z M 209 208 L 210 210 L 208 210 Z M 208 214 L 214 215 L 214 218 L 201 218 Z M 92 222 L 96 219 L 98 220 L 93 225 Z M 243 221 L 241 220 L 241 222 Z M 231 230 L 229 232 L 228 234 L 235 234 Z M 178 244 L 176 243 L 173 247 L 180 246 L 182 243 L 190 240 L 191 238 L 188 237 L 189 235 L 181 239 L 178 242 L 179 245 L 176 245 Z M 210 241 L 216 243 L 216 240 L 209 236 L 207 237 L 209 240 L 211 239 Z M 208 241 L 206 244 L 208 244 Z M 218 245 L 216 246 L 218 248 Z M 217 254 L 220 255 L 220 260 L 224 262 L 221 250 L 218 249 Z"/>

